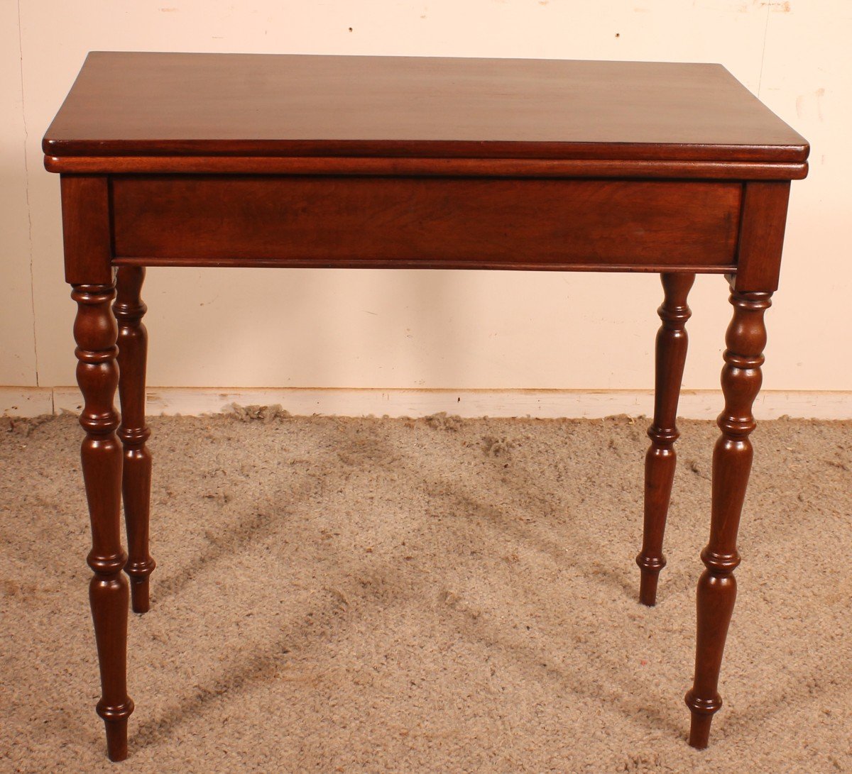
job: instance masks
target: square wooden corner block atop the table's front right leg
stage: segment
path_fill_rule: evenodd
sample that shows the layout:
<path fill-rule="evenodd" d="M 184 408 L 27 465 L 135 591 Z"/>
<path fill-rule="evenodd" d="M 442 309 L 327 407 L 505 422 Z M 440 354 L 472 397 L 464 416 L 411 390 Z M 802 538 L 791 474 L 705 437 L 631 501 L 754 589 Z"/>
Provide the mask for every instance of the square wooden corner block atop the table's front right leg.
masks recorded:
<path fill-rule="evenodd" d="M 737 247 L 737 290 L 778 290 L 789 182 L 746 183 Z"/>

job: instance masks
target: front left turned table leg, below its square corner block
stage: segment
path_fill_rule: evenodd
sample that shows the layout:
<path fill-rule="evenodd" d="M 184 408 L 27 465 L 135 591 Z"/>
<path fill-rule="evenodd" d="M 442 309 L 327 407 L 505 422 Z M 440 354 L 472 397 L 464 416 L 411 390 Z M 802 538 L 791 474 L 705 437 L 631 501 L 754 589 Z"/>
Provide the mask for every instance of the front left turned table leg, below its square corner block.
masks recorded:
<path fill-rule="evenodd" d="M 87 561 L 95 573 L 89 602 L 101 667 L 101 701 L 97 713 L 107 726 L 112 760 L 127 757 L 127 719 L 133 702 L 127 695 L 128 583 L 122 570 L 127 555 L 121 547 L 121 446 L 115 431 L 118 414 L 113 399 L 118 386 L 118 328 L 110 311 L 112 285 L 73 285 L 78 312 L 77 381 L 83 392 L 80 424 L 86 431 L 81 449 L 83 480 L 89 501 L 92 550 Z"/>

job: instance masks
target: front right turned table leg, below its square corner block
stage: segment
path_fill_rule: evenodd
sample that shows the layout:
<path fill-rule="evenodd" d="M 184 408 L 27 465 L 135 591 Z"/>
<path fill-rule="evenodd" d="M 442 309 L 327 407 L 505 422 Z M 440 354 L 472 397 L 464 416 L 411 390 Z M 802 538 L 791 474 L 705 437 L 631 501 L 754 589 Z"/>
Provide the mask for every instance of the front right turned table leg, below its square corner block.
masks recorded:
<path fill-rule="evenodd" d="M 722 707 L 719 696 L 719 669 L 734 611 L 737 583 L 734 569 L 740 564 L 737 529 L 751 471 L 751 441 L 755 427 L 751 405 L 761 384 L 766 328 L 763 312 L 772 301 L 771 293 L 731 294 L 734 318 L 725 338 L 722 393 L 725 410 L 719 416 L 722 430 L 713 450 L 713 502 L 710 542 L 701 552 L 706 570 L 698 584 L 698 644 L 695 651 L 695 679 L 686 702 L 692 712 L 689 743 L 705 748 L 710 737 L 713 714 Z"/>

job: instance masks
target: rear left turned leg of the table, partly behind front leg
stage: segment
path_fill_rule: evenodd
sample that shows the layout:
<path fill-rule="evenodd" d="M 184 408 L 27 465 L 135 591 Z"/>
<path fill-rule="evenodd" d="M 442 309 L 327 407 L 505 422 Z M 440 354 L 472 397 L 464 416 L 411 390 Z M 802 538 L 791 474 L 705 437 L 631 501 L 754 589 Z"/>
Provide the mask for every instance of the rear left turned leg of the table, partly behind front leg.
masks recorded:
<path fill-rule="evenodd" d="M 148 335 L 142 318 L 147 307 L 140 293 L 145 268 L 120 267 L 118 296 L 112 305 L 118 320 L 118 395 L 121 426 L 118 438 L 124 444 L 124 521 L 127 526 L 130 596 L 135 613 L 149 608 L 148 578 L 156 566 L 148 553 L 148 517 L 151 508 L 151 454 L 145 442 L 151 435 L 145 424 L 145 366 Z"/>

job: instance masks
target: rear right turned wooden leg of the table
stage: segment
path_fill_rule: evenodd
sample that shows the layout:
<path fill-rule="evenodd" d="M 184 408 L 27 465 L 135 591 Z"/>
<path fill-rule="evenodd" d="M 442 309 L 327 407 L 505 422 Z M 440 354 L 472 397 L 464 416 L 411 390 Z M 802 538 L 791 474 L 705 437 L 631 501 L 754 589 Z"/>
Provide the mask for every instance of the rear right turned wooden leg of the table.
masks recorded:
<path fill-rule="evenodd" d="M 663 324 L 657 333 L 653 423 L 648 427 L 651 446 L 645 456 L 645 528 L 642 551 L 636 557 L 641 570 L 639 601 L 643 605 L 656 603 L 659 570 L 665 567 L 663 533 L 671 500 L 671 482 L 675 478 L 675 441 L 680 435 L 675 424 L 677 398 L 687 359 L 686 324 L 692 314 L 687 296 L 695 275 L 661 274 L 660 279 L 665 295 L 657 312 Z"/>

